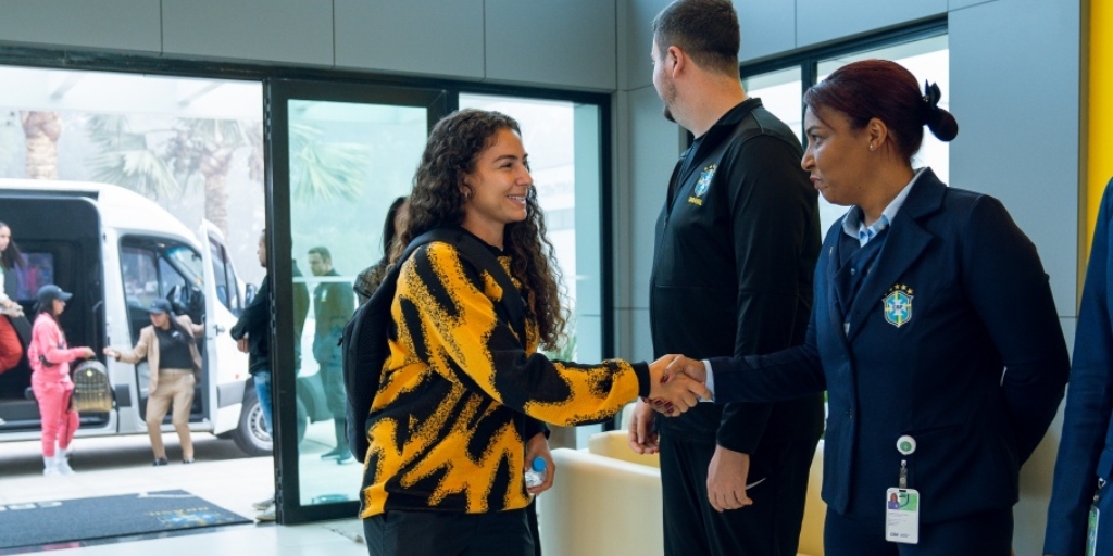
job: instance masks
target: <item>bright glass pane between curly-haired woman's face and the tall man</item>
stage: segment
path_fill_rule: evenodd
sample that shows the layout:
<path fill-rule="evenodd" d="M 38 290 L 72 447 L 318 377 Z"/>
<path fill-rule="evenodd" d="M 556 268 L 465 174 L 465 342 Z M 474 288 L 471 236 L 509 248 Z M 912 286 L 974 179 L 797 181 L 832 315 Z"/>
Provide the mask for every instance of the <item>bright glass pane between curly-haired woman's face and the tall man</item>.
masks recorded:
<path fill-rule="evenodd" d="M 599 107 L 568 101 L 461 95 L 460 108 L 498 110 L 515 120 L 530 155 L 530 173 L 545 214 L 549 240 L 568 294 L 563 360 L 601 360 L 602 252 L 600 250 Z M 550 446 L 584 447 L 599 425 L 556 430 Z"/>

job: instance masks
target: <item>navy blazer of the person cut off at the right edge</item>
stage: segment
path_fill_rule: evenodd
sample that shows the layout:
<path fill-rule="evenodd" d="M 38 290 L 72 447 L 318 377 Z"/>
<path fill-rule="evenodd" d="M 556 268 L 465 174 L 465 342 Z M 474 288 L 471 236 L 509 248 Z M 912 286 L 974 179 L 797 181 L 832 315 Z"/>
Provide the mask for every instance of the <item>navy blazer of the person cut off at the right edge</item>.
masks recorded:
<path fill-rule="evenodd" d="M 1110 277 L 1113 258 L 1113 181 L 1105 187 L 1094 226 L 1086 284 L 1074 336 L 1071 393 L 1066 397 L 1063 438 L 1055 461 L 1055 484 L 1047 508 L 1044 554 L 1081 555 L 1086 546 L 1086 519 L 1097 479 L 1113 479 L 1113 305 Z M 1106 487 L 1107 489 L 1109 487 Z M 1113 518 L 1113 516 L 1110 516 Z M 1102 513 L 1102 527 L 1109 523 Z M 1113 533 L 1113 532 L 1111 532 Z M 1106 533 L 1109 535 L 1110 533 Z"/>

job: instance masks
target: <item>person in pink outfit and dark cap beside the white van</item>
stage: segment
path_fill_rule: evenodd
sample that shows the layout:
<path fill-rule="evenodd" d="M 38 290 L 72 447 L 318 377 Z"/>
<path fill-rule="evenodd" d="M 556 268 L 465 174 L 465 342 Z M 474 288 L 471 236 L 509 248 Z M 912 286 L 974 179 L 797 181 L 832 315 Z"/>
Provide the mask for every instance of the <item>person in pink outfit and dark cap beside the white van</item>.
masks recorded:
<path fill-rule="evenodd" d="M 67 347 L 66 335 L 58 326 L 58 316 L 71 297 L 72 294 L 52 284 L 39 288 L 38 316 L 31 328 L 31 345 L 27 349 L 32 370 L 31 389 L 42 419 L 43 475 L 73 473 L 67 457 L 70 440 L 77 433 L 78 415 L 70 407 L 73 381 L 70 380 L 69 364 L 95 355 L 87 347 Z M 55 443 L 58 443 L 57 451 Z"/>

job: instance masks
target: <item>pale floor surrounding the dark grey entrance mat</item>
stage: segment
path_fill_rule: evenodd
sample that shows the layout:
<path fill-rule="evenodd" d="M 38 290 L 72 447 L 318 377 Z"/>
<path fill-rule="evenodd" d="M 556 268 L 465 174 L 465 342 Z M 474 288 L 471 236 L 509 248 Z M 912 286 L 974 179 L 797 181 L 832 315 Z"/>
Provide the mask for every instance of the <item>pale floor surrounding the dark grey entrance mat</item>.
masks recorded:
<path fill-rule="evenodd" d="M 197 463 L 186 466 L 180 464 L 173 436 L 166 435 L 171 460 L 166 467 L 150 466 L 145 436 L 79 438 L 72 458 L 77 473 L 51 477 L 41 475 L 38 443 L 0 444 L 0 505 L 180 488 L 247 518 L 258 514 L 252 503 L 270 494 L 274 467 L 269 457 L 245 458 L 229 440 L 197 435 Z M 354 518 L 297 526 L 255 523 L 19 552 L 50 550 L 59 556 L 362 556 L 367 554 L 362 533 L 362 524 Z"/>

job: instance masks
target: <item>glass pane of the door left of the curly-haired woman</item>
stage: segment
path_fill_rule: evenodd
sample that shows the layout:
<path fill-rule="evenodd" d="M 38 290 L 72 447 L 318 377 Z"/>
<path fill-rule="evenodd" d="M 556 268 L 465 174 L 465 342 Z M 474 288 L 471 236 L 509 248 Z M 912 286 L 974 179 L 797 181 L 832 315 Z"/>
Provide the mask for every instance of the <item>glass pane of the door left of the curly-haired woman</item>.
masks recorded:
<path fill-rule="evenodd" d="M 344 435 L 337 340 L 353 280 L 383 256 L 386 210 L 410 190 L 426 109 L 290 100 L 289 115 L 299 502 L 328 504 L 354 499 L 363 473 Z"/>

